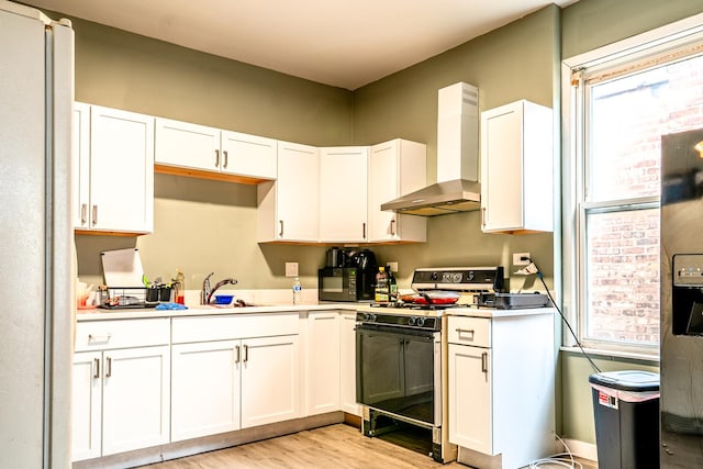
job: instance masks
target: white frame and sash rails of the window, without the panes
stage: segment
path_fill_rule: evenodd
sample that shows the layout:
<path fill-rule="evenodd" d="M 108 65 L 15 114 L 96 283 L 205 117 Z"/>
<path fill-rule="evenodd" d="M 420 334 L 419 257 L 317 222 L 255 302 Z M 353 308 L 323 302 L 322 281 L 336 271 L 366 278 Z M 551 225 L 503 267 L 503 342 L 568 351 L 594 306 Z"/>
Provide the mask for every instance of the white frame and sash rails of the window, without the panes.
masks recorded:
<path fill-rule="evenodd" d="M 647 69 L 655 64 L 652 57 L 681 54 L 691 44 L 703 49 L 703 13 L 668 24 L 662 27 L 629 37 L 604 47 L 580 54 L 561 62 L 561 138 L 562 138 L 562 309 L 568 321 L 574 325 L 581 345 L 595 353 L 623 356 L 641 356 L 658 359 L 659 346 L 618 343 L 585 338 L 587 331 L 587 232 L 585 217 L 589 210 L 617 208 L 651 208 L 659 205 L 659 197 L 639 197 L 606 202 L 589 202 L 585 190 L 589 172 L 585 168 L 588 154 L 588 126 L 584 107 L 590 99 L 584 87 L 582 71 L 589 76 L 621 68 L 636 70 L 640 64 Z M 670 62 L 670 60 L 667 60 Z M 625 64 L 629 64 L 627 67 Z M 649 65 L 647 65 L 649 64 Z M 577 72 L 574 75 L 574 71 Z M 616 71 L 617 72 L 617 71 Z M 624 75 L 626 71 L 623 71 Z M 576 82 L 573 81 L 576 78 Z M 656 204 L 656 205 L 655 205 Z M 573 337 L 563 330 L 562 344 L 574 347 Z"/>

